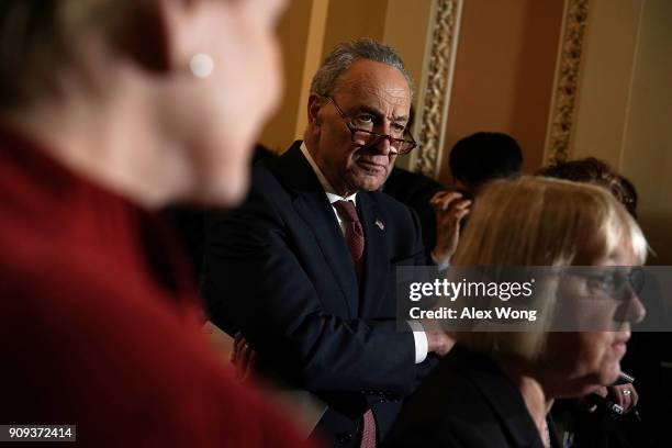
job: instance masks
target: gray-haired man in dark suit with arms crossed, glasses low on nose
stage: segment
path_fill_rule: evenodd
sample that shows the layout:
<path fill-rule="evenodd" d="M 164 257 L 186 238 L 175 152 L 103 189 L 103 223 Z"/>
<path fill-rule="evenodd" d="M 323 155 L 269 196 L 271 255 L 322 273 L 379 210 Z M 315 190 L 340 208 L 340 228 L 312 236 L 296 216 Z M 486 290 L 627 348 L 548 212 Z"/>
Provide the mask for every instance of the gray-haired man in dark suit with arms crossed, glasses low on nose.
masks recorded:
<path fill-rule="evenodd" d="M 257 166 L 240 210 L 206 220 L 211 320 L 244 335 L 257 370 L 328 405 L 314 436 L 335 446 L 380 443 L 427 355 L 452 346 L 395 322 L 396 267 L 427 264 L 416 214 L 378 191 L 415 146 L 410 86 L 392 48 L 337 46 L 313 78 L 304 141 Z"/>

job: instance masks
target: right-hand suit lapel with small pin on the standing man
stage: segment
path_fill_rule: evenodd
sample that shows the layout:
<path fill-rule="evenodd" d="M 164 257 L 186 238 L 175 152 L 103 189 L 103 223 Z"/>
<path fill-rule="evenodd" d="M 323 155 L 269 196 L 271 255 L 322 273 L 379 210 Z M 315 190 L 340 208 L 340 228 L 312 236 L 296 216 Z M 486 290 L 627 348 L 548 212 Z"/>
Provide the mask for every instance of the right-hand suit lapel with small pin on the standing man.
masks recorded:
<path fill-rule="evenodd" d="M 384 223 L 380 219 L 378 206 L 370 194 L 357 194 L 357 208 L 365 232 L 365 284 L 362 300 L 359 302 L 359 315 L 380 315 L 383 304 L 385 279 L 388 276 L 388 245 L 385 244 Z M 382 225 L 383 228 L 379 226 Z"/>

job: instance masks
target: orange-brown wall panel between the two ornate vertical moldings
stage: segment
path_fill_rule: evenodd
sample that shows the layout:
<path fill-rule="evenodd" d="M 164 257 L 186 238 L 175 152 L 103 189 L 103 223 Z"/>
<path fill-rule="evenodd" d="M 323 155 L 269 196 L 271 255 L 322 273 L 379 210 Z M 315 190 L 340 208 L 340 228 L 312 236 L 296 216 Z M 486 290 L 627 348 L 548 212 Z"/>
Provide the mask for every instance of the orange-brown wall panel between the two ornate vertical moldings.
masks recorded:
<path fill-rule="evenodd" d="M 439 180 L 479 131 L 515 137 L 527 171 L 541 165 L 562 13 L 563 0 L 464 1 Z"/>

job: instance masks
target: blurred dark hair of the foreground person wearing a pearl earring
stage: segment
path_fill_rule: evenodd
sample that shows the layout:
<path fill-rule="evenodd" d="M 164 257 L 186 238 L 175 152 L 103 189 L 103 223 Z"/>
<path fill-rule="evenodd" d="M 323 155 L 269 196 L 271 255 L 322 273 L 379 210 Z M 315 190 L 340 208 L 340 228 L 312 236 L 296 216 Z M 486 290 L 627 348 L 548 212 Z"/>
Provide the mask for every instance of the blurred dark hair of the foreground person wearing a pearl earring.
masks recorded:
<path fill-rule="evenodd" d="M 0 107 L 26 103 L 55 89 L 56 74 L 72 63 L 87 34 L 111 33 L 130 0 L 2 0 Z M 145 3 L 144 1 L 136 1 Z"/>

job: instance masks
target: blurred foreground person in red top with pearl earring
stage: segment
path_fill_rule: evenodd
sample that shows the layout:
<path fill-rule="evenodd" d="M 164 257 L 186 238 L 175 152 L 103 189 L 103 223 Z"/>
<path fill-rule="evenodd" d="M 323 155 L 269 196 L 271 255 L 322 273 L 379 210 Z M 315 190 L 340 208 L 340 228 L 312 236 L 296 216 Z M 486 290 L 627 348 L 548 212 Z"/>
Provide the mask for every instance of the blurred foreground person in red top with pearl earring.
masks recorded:
<path fill-rule="evenodd" d="M 90 446 L 301 443 L 206 346 L 153 213 L 242 199 L 282 3 L 0 3 L 0 422 Z"/>

